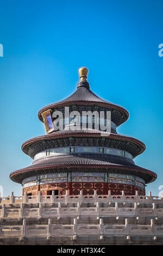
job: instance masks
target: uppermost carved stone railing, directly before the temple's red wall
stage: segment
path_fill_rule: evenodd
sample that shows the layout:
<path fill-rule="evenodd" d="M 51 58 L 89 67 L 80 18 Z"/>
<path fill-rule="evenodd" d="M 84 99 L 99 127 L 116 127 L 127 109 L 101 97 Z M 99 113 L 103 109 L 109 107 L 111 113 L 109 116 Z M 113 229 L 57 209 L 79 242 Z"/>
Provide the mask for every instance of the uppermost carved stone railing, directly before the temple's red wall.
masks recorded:
<path fill-rule="evenodd" d="M 99 196 L 97 192 L 93 195 L 86 195 L 84 196 L 82 191 L 80 191 L 79 196 L 68 196 L 67 191 L 66 195 L 64 196 L 54 196 L 54 191 L 52 192 L 51 196 L 41 196 L 40 192 L 38 196 L 24 196 L 16 197 L 12 192 L 10 197 L 0 197 L 0 205 L 1 204 L 21 204 L 21 203 L 29 203 L 29 204 L 36 204 L 36 203 L 163 203 L 163 197 L 152 196 L 151 192 L 149 192 L 149 196 L 139 196 L 137 191 L 136 194 L 133 196 L 125 196 L 124 191 L 122 191 L 122 195 L 119 196 L 112 196 L 111 191 L 109 194 Z"/>

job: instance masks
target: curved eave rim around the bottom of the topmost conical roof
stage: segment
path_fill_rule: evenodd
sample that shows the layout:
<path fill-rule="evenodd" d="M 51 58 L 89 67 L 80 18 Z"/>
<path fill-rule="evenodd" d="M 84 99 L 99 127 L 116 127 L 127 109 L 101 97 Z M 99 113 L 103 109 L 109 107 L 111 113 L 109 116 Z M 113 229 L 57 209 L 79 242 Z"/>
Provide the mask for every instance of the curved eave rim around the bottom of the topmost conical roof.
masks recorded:
<path fill-rule="evenodd" d="M 87 106 L 87 105 L 95 106 L 96 105 L 96 106 L 100 106 L 100 107 L 116 109 L 117 111 L 119 111 L 123 114 L 123 119 L 122 119 L 121 124 L 123 124 L 129 118 L 128 111 L 125 108 L 121 107 L 121 106 L 114 105 L 110 102 L 83 101 L 83 100 L 80 100 L 80 101 L 60 101 L 58 103 L 53 103 L 51 105 L 48 105 L 46 107 L 41 108 L 39 113 L 38 113 L 38 117 L 43 122 L 41 113 L 46 111 L 47 109 L 53 109 L 53 108 L 56 108 L 56 107 L 63 107 L 63 106 L 72 106 L 72 105 L 85 105 L 85 106 Z"/>

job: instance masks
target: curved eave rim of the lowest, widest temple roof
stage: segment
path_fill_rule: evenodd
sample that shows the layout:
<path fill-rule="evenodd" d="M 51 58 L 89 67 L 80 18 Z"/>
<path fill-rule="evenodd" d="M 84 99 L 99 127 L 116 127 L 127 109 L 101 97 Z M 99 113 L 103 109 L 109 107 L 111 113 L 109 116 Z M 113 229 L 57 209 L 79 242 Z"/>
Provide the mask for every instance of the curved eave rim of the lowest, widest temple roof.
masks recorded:
<path fill-rule="evenodd" d="M 122 165 L 122 164 L 114 164 L 114 163 L 106 163 L 106 162 L 102 162 L 99 163 L 100 161 L 91 161 L 90 164 L 68 164 L 68 163 L 58 163 L 58 164 L 42 164 L 40 166 L 29 166 L 20 170 L 16 170 L 15 172 L 12 172 L 10 174 L 10 179 L 12 181 L 15 181 L 17 183 L 22 183 L 23 180 L 23 174 L 28 174 L 29 176 L 32 175 L 36 175 L 39 174 L 41 171 L 42 172 L 62 172 L 62 170 L 65 171 L 65 169 L 71 169 L 72 170 L 88 170 L 88 169 L 92 169 L 92 171 L 95 171 L 97 169 L 102 169 L 102 170 L 110 170 L 110 171 L 116 171 L 116 172 L 133 172 L 134 175 L 138 175 L 140 176 L 141 174 L 144 175 L 146 177 L 145 181 L 146 184 L 153 182 L 156 178 L 157 175 L 152 172 L 151 170 L 147 170 L 145 168 L 141 168 L 139 166 L 126 166 L 126 165 Z"/>

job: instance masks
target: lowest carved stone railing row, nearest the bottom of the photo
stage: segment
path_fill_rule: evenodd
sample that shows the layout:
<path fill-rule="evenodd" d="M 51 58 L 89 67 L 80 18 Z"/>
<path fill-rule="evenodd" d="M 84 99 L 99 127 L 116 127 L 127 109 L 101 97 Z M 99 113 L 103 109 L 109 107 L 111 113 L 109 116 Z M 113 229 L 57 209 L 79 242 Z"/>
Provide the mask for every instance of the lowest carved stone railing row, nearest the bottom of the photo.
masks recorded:
<path fill-rule="evenodd" d="M 148 224 L 130 224 L 128 218 L 123 224 L 104 224 L 103 219 L 99 219 L 98 224 L 78 223 L 74 218 L 73 224 L 52 223 L 52 219 L 48 219 L 47 224 L 26 224 L 23 220 L 22 225 L 0 225 L 0 237 L 59 237 L 59 236 L 98 236 L 98 239 L 103 239 L 103 236 L 152 236 L 153 239 L 163 235 L 163 225 L 155 224 L 154 220 Z"/>

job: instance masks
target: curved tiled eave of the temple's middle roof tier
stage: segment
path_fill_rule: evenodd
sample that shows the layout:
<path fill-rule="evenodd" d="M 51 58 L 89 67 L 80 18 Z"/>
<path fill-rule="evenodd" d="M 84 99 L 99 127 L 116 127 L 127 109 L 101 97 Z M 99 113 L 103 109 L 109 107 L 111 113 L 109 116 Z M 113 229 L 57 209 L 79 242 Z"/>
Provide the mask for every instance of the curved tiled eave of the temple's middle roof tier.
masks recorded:
<path fill-rule="evenodd" d="M 63 132 L 53 132 L 53 133 L 49 133 L 47 135 L 43 135 L 43 136 L 38 136 L 38 137 L 34 137 L 32 139 L 29 139 L 28 141 L 24 142 L 22 144 L 22 150 L 25 154 L 28 155 L 27 152 L 27 148 L 30 147 L 30 145 L 37 143 L 37 142 L 41 142 L 41 141 L 48 141 L 51 139 L 59 139 L 59 138 L 68 138 L 68 137 L 93 137 L 93 138 L 102 138 L 101 136 L 101 132 L 90 132 L 89 130 L 84 131 L 63 131 Z M 145 151 L 146 146 L 143 142 L 139 141 L 138 139 L 132 138 L 132 137 L 128 137 L 128 136 L 124 136 L 124 135 L 118 135 L 115 133 L 110 133 L 109 136 L 107 137 L 103 137 L 103 138 L 108 138 L 108 139 L 116 139 L 118 141 L 128 141 L 128 142 L 132 142 L 136 145 L 139 146 L 140 148 L 140 152 L 139 155 L 143 153 L 143 151 Z"/>

